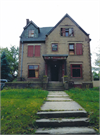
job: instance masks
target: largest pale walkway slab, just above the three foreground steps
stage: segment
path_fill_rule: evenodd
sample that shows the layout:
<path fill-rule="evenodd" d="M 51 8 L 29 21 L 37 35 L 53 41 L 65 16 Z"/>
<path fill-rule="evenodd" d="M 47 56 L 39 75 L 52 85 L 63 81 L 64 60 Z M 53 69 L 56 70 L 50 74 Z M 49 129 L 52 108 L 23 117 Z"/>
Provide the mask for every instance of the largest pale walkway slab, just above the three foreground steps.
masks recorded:
<path fill-rule="evenodd" d="M 42 111 L 45 110 L 67 110 L 67 111 L 77 111 L 84 110 L 78 103 L 75 101 L 69 102 L 45 102 L 41 107 Z"/>

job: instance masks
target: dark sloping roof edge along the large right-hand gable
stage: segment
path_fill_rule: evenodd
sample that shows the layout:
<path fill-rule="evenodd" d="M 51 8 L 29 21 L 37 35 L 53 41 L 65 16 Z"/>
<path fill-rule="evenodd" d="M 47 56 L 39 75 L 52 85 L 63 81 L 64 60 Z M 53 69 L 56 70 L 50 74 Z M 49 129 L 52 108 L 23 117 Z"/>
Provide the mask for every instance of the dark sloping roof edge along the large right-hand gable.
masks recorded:
<path fill-rule="evenodd" d="M 66 14 L 48 33 L 47 36 L 66 18 L 68 17 L 85 35 L 87 34 L 68 14 Z"/>

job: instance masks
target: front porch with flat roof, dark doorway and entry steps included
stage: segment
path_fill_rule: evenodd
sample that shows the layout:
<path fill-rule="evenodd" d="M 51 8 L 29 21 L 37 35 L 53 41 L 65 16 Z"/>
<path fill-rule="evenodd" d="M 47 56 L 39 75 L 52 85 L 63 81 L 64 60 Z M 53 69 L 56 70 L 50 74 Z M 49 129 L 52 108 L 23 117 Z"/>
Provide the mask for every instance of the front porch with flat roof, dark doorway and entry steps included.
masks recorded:
<path fill-rule="evenodd" d="M 67 59 L 68 55 L 45 54 L 44 88 L 48 90 L 68 89 Z M 65 79 L 66 77 L 67 79 Z M 60 85 L 60 86 L 59 86 Z M 66 86 L 66 87 L 65 87 Z"/>

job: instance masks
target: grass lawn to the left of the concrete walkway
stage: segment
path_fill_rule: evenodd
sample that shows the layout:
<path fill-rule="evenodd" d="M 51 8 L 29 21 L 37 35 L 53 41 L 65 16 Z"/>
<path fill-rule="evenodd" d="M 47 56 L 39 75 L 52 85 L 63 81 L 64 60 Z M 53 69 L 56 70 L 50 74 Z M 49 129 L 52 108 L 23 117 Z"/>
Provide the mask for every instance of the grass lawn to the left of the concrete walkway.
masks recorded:
<path fill-rule="evenodd" d="M 1 134 L 34 134 L 37 111 L 48 91 L 9 89 L 1 91 Z"/>

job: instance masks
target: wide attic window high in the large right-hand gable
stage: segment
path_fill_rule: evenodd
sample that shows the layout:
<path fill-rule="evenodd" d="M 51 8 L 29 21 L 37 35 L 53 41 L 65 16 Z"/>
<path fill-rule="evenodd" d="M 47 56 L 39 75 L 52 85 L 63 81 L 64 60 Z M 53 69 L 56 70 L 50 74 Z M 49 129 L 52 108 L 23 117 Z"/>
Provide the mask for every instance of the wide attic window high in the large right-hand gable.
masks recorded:
<path fill-rule="evenodd" d="M 73 28 L 61 28 L 61 36 L 63 36 L 63 37 L 73 37 L 74 36 Z"/>

